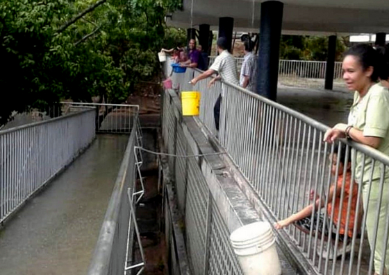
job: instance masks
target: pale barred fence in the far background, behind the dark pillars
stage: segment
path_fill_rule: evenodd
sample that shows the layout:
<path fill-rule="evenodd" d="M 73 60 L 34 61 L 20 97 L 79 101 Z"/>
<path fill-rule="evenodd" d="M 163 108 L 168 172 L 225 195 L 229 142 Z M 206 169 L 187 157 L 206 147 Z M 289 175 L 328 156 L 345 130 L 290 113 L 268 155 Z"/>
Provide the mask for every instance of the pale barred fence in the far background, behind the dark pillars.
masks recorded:
<path fill-rule="evenodd" d="M 209 64 L 215 61 L 215 56 L 209 57 Z M 238 72 L 244 58 L 236 57 Z M 294 87 L 324 88 L 326 76 L 325 61 L 309 60 L 279 60 L 279 84 Z M 335 62 L 333 74 L 334 85 L 343 87 L 342 62 Z"/>

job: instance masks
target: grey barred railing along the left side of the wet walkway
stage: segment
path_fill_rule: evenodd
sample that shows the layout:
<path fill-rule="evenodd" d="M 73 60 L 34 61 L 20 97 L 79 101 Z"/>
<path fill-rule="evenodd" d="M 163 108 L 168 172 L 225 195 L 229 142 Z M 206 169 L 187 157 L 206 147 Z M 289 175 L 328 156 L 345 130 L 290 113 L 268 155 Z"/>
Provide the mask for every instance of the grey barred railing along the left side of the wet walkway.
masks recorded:
<path fill-rule="evenodd" d="M 94 139 L 94 110 L 0 131 L 0 222 Z"/>

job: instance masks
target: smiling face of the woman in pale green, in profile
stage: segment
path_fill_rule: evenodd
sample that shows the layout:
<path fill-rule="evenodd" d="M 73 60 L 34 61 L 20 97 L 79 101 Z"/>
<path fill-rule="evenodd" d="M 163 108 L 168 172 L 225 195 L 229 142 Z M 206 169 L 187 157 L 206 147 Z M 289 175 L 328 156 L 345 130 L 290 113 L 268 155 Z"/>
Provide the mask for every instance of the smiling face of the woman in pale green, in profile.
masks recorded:
<path fill-rule="evenodd" d="M 349 90 L 363 91 L 372 82 L 370 78 L 373 73 L 372 66 L 364 70 L 358 57 L 354 55 L 347 55 L 345 57 L 342 64 L 342 71 L 343 79 Z"/>

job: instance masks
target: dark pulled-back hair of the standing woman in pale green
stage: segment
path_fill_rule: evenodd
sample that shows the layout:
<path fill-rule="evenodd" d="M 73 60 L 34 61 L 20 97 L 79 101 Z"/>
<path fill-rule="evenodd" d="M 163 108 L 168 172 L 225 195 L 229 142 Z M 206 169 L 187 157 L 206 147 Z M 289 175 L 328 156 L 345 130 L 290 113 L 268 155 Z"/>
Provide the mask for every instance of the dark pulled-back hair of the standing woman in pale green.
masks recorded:
<path fill-rule="evenodd" d="M 368 44 L 358 44 L 349 48 L 345 52 L 344 57 L 353 55 L 358 58 L 364 70 L 367 70 L 370 66 L 373 67 L 372 81 L 377 81 L 381 76 L 381 70 L 383 68 L 382 57 L 380 58 L 379 51 L 376 51 L 372 46 Z"/>

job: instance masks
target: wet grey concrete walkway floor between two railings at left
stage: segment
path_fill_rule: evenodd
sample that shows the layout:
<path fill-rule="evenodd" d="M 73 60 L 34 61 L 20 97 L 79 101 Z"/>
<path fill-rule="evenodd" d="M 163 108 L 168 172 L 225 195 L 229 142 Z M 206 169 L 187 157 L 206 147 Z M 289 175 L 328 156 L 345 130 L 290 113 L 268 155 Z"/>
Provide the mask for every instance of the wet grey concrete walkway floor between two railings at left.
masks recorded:
<path fill-rule="evenodd" d="M 128 136 L 99 135 L 0 231 L 1 275 L 86 274 Z"/>

